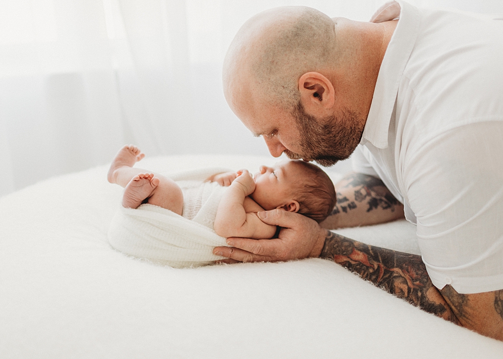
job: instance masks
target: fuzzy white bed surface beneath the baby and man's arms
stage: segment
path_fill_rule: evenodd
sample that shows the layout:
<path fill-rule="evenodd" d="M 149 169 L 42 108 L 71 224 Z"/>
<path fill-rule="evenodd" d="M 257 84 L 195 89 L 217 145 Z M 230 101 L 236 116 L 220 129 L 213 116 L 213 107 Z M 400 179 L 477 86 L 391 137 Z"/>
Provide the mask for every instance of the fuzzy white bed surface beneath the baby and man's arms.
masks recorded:
<path fill-rule="evenodd" d="M 171 156 L 159 172 L 275 159 Z M 177 270 L 107 243 L 107 166 L 0 199 L 1 358 L 503 358 L 503 343 L 307 259 Z M 332 173 L 332 177 L 337 175 Z M 405 221 L 338 231 L 418 252 Z"/>

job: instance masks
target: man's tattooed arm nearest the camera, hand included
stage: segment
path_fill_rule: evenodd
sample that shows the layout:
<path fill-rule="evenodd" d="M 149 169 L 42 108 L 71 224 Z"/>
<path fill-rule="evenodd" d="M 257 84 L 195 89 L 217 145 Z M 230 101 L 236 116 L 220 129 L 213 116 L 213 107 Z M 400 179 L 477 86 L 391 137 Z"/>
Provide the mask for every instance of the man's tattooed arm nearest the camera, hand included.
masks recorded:
<path fill-rule="evenodd" d="M 334 260 L 414 306 L 458 325 L 503 341 L 503 290 L 459 294 L 438 290 L 421 256 L 363 244 L 319 227 L 310 218 L 280 210 L 259 212 L 268 224 L 283 227 L 276 239 L 228 238 L 231 247 L 213 253 L 226 263 L 285 261 L 317 257 Z"/>

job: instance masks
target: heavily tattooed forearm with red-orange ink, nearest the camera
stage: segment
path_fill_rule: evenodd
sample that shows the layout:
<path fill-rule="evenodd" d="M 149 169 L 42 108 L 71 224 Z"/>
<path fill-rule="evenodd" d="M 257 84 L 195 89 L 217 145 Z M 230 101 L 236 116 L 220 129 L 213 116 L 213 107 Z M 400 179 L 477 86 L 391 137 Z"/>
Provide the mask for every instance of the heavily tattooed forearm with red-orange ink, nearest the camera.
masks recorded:
<path fill-rule="evenodd" d="M 328 232 L 320 256 L 429 313 L 456 322 L 419 255 L 366 245 Z"/>

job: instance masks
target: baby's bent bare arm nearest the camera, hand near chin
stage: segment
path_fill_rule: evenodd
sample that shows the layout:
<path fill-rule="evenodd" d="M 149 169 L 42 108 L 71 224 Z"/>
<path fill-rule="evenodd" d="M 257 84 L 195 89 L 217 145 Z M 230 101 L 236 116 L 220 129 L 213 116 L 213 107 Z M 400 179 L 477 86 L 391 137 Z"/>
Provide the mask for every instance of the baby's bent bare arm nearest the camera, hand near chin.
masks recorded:
<path fill-rule="evenodd" d="M 262 208 L 248 198 L 255 191 L 255 182 L 247 170 L 243 170 L 218 205 L 215 232 L 222 237 L 272 238 L 276 226 L 266 224 L 257 217 Z M 252 212 L 253 211 L 253 212 Z"/>

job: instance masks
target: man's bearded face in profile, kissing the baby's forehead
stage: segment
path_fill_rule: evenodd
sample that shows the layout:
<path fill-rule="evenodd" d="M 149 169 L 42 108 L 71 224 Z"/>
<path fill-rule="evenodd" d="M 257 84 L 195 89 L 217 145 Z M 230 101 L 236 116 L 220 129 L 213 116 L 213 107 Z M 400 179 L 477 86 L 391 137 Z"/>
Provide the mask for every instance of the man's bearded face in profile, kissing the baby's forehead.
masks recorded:
<path fill-rule="evenodd" d="M 291 159 L 331 166 L 348 158 L 360 143 L 365 119 L 355 111 L 340 107 L 333 116 L 318 119 L 306 113 L 300 100 L 286 110 L 269 104 L 260 84 L 242 78 L 226 92 L 227 102 L 248 130 L 264 137 L 274 157 L 285 152 Z"/>

